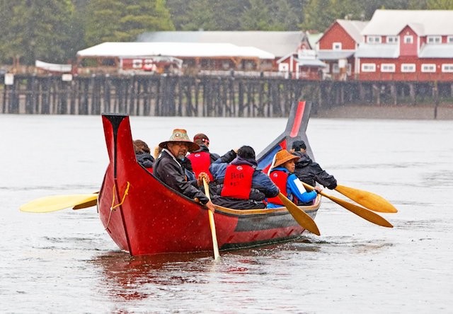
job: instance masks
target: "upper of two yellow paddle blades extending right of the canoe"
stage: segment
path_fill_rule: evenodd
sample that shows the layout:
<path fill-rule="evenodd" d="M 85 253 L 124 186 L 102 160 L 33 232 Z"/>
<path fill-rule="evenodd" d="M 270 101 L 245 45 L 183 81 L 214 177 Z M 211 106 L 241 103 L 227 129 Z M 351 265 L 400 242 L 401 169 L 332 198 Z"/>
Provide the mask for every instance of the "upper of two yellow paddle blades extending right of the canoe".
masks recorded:
<path fill-rule="evenodd" d="M 343 194 L 345 197 L 352 199 L 354 202 L 357 202 L 357 204 L 360 204 L 367 209 L 371 209 L 372 211 L 379 211 L 381 213 L 398 212 L 398 209 L 390 204 L 389 201 L 384 199 L 384 197 L 380 197 L 372 192 L 357 190 L 352 187 L 345 187 L 344 185 L 337 185 L 335 190 Z"/>

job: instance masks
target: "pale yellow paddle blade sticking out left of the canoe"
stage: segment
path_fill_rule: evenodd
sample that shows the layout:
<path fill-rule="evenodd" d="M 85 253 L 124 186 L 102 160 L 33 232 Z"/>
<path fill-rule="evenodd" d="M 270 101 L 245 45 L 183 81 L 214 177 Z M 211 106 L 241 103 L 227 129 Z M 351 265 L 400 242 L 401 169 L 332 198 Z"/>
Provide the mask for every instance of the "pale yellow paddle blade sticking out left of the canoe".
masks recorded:
<path fill-rule="evenodd" d="M 50 211 L 59 211 L 69 207 L 76 207 L 79 204 L 86 204 L 98 198 L 98 194 L 71 194 L 55 195 L 34 199 L 27 204 L 23 204 L 21 211 L 29 213 L 47 213 Z"/>

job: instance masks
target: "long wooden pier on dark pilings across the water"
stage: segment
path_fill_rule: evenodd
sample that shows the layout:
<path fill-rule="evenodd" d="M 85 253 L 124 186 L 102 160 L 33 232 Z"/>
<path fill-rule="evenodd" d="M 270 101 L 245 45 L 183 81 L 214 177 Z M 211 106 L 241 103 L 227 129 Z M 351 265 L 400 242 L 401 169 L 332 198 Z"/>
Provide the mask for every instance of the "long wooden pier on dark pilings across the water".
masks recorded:
<path fill-rule="evenodd" d="M 299 99 L 319 110 L 345 104 L 398 105 L 453 99 L 452 83 L 304 81 L 234 76 L 62 76 L 0 78 L 0 113 L 286 117 Z"/>

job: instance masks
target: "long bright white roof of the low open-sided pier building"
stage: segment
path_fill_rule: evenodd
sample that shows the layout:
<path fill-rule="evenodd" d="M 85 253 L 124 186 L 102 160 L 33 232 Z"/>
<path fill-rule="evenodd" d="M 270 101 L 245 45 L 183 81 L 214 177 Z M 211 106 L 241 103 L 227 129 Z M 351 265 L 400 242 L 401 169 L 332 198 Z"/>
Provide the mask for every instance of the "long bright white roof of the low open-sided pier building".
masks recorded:
<path fill-rule="evenodd" d="M 256 57 L 275 59 L 256 47 L 199 42 L 103 42 L 77 52 L 78 57 Z"/>

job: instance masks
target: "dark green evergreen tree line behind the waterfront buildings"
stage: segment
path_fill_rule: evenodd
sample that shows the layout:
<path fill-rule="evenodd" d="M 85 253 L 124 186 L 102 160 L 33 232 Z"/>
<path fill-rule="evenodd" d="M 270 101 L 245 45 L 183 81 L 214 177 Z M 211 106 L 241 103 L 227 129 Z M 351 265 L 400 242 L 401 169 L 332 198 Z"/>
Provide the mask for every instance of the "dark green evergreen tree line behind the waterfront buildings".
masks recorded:
<path fill-rule="evenodd" d="M 378 8 L 453 9 L 453 0 L 0 0 L 0 64 L 68 63 L 101 42 L 159 30 L 311 30 Z"/>

